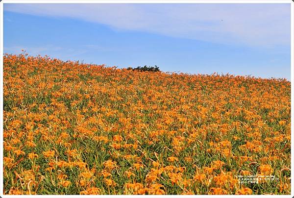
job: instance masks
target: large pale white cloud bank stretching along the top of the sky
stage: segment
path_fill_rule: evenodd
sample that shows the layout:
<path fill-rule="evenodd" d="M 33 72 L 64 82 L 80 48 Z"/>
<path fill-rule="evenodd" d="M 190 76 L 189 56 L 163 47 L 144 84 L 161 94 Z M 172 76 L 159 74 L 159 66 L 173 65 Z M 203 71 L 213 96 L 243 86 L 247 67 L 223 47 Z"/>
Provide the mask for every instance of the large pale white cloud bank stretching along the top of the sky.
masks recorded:
<path fill-rule="evenodd" d="M 289 4 L 4 4 L 4 10 L 71 17 L 202 41 L 290 46 Z"/>

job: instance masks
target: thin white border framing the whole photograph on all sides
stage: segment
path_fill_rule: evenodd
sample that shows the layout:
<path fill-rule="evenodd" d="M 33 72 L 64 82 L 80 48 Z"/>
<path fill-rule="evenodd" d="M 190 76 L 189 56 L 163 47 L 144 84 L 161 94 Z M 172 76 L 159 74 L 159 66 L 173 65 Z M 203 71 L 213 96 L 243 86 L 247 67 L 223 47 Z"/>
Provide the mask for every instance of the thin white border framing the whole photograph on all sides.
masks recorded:
<path fill-rule="evenodd" d="M 292 0 L 2 0 L 0 1 L 0 196 L 2 198 L 79 198 L 79 197 L 125 197 L 130 195 L 3 195 L 3 3 L 290 3 L 291 4 L 291 195 L 222 195 L 221 197 L 279 197 L 294 196 L 294 1 Z M 162 195 L 132 195 L 130 197 L 162 197 Z M 164 197 L 217 197 L 213 195 L 165 195 Z"/>

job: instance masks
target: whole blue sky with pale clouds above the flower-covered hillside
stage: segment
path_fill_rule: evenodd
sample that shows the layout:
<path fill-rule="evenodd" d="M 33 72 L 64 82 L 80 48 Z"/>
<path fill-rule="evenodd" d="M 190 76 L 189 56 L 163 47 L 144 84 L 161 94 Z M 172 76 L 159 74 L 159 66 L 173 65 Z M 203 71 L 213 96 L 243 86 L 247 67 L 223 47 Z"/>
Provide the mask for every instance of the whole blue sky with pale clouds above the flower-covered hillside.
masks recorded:
<path fill-rule="evenodd" d="M 4 53 L 291 78 L 289 4 L 4 4 Z"/>

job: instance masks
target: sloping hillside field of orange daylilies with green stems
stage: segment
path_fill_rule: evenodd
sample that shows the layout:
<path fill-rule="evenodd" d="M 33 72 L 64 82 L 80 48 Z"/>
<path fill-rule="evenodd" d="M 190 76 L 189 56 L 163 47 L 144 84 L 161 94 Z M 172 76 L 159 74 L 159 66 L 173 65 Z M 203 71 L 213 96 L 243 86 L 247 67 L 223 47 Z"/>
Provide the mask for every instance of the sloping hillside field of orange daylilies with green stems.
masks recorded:
<path fill-rule="evenodd" d="M 25 54 L 3 75 L 4 194 L 290 194 L 287 80 Z"/>

